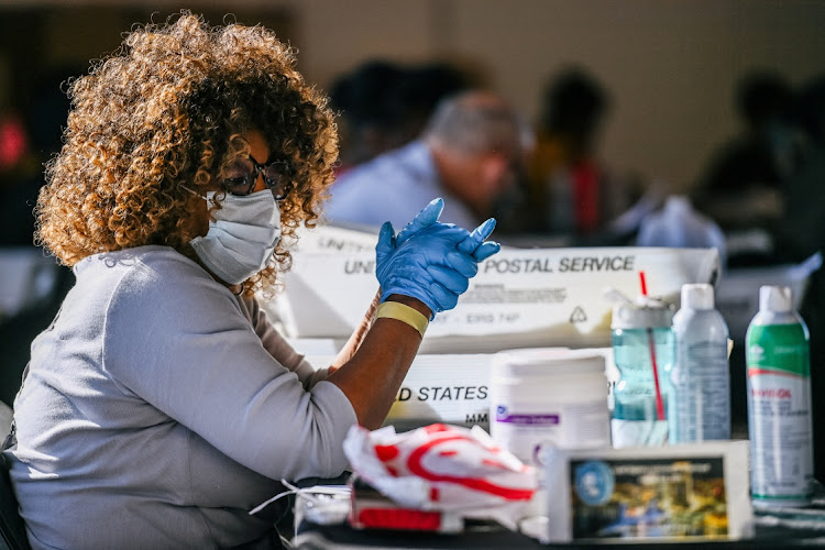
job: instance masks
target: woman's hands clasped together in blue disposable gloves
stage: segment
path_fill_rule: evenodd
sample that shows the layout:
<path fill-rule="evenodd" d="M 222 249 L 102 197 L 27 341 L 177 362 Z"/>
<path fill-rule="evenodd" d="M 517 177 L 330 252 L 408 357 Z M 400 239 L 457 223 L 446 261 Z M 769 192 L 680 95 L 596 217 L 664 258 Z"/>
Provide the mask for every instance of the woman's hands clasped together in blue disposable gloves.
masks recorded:
<path fill-rule="evenodd" d="M 398 235 L 392 223 L 384 223 L 375 248 L 381 300 L 392 294 L 413 296 L 430 308 L 430 319 L 455 307 L 477 273 L 479 262 L 501 249 L 498 243 L 484 242 L 495 228 L 494 219 L 470 233 L 439 222 L 442 210 L 443 200 L 433 200 Z"/>

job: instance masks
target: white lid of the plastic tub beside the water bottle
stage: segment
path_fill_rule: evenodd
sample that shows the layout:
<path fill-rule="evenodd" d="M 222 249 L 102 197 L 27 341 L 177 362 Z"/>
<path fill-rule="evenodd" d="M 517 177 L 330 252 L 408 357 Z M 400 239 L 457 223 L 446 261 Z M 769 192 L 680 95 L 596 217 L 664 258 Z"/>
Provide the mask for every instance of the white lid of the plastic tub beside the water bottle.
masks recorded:
<path fill-rule="evenodd" d="M 492 373 L 497 376 L 552 376 L 604 374 L 604 355 L 568 348 L 526 348 L 493 354 Z"/>

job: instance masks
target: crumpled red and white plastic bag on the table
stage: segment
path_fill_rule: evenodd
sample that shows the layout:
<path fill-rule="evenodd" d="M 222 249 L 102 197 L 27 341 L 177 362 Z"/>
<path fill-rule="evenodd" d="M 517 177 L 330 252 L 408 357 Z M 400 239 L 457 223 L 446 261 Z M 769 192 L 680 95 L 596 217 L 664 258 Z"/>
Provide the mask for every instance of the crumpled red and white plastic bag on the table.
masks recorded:
<path fill-rule="evenodd" d="M 343 447 L 352 471 L 403 507 L 494 519 L 514 530 L 539 486 L 534 468 L 477 426 L 433 424 L 403 433 L 354 426 Z"/>

